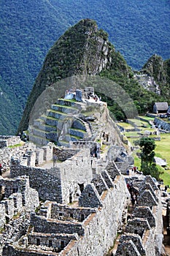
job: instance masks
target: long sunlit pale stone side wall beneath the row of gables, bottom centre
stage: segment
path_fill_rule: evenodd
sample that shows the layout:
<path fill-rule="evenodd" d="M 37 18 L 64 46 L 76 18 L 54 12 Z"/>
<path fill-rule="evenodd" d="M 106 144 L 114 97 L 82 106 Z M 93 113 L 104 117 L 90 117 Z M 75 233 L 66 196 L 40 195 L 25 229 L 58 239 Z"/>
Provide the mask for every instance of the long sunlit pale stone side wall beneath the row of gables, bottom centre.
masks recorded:
<path fill-rule="evenodd" d="M 102 207 L 84 222 L 85 236 L 74 245 L 69 244 L 61 255 L 104 255 L 112 246 L 127 206 L 128 191 L 124 178 L 117 176 L 115 186 L 103 194 Z M 114 210 L 113 210 L 114 209 Z"/>

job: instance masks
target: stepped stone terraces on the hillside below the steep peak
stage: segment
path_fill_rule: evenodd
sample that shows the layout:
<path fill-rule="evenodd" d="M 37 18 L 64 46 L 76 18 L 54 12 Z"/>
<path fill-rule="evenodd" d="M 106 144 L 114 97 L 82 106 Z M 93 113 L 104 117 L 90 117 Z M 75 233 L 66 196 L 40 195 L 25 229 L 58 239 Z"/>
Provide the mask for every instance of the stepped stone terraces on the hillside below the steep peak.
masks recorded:
<path fill-rule="evenodd" d="M 45 146 L 51 141 L 66 147 L 69 141 L 90 140 L 90 126 L 79 118 L 81 110 L 85 110 L 85 103 L 58 99 L 46 114 L 28 127 L 29 140 L 37 146 Z"/>

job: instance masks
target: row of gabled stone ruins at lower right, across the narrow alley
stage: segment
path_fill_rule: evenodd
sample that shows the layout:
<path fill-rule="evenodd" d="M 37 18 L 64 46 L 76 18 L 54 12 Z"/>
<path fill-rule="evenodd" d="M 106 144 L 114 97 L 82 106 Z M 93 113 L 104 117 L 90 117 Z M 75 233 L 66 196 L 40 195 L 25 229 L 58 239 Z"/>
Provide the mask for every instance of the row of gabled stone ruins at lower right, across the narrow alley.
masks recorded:
<path fill-rule="evenodd" d="M 131 219 L 128 220 L 125 227 L 125 232 L 131 233 L 131 236 L 134 236 L 134 233 L 138 234 L 142 238 L 144 255 L 161 255 L 163 242 L 161 192 L 151 176 L 143 176 L 141 178 L 139 181 L 136 177 L 127 179 L 128 183 L 133 183 L 134 187 L 139 188 L 139 195 L 137 197 L 137 204 L 134 206 L 134 211 L 131 214 Z M 120 244 L 115 255 L 125 256 L 128 246 L 131 248 L 131 255 L 141 255 L 138 243 L 136 244 L 134 238 L 131 238 L 133 244 L 128 244 L 129 241 L 125 241 L 126 238 L 124 236 L 127 236 L 126 233 L 122 239 L 120 238 Z"/>

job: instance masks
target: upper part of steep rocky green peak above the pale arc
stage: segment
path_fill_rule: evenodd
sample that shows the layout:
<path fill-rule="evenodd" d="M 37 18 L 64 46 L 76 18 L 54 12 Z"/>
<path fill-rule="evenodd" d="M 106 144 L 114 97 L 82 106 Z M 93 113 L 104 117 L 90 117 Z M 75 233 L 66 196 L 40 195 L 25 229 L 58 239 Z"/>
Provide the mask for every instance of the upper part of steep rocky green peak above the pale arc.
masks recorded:
<path fill-rule="evenodd" d="M 80 20 L 69 28 L 47 53 L 44 64 L 28 97 L 18 131 L 28 127 L 28 119 L 36 99 L 47 86 L 72 75 L 98 75 L 106 69 L 131 73 L 123 56 L 108 41 L 107 32 L 98 29 L 96 21 Z"/>

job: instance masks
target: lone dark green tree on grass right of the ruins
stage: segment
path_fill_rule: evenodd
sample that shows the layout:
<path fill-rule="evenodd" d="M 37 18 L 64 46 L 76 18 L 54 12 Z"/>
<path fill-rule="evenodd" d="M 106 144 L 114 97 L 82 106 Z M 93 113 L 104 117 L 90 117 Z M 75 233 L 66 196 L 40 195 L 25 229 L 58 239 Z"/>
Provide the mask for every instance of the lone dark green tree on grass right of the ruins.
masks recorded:
<path fill-rule="evenodd" d="M 156 179 L 159 178 L 159 171 L 153 162 L 155 156 L 155 140 L 152 138 L 141 138 L 139 140 L 139 146 L 141 148 L 141 170 L 144 175 L 151 175 Z"/>

